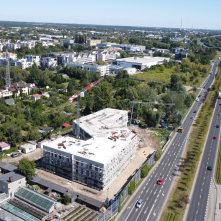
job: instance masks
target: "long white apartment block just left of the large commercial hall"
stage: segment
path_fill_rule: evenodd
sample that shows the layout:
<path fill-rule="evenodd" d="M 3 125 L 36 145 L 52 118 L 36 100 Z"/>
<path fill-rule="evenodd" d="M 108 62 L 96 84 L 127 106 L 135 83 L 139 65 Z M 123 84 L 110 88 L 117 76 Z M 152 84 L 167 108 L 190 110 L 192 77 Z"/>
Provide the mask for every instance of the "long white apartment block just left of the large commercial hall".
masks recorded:
<path fill-rule="evenodd" d="M 67 65 L 72 67 L 77 67 L 82 70 L 91 71 L 93 74 L 100 73 L 102 77 L 110 74 L 109 65 L 89 65 L 78 62 L 70 62 L 67 63 Z"/>

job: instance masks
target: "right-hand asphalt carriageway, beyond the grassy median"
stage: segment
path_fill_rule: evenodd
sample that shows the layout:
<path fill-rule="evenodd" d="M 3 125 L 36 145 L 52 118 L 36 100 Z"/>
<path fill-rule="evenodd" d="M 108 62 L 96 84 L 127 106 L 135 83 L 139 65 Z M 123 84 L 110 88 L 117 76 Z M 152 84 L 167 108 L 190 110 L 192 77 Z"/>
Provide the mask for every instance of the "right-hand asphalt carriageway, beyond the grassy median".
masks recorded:
<path fill-rule="evenodd" d="M 210 183 L 212 181 L 213 172 L 207 170 L 208 166 L 215 165 L 216 151 L 218 148 L 219 140 L 215 140 L 214 136 L 219 138 L 220 128 L 216 128 L 216 125 L 221 126 L 221 100 L 218 99 L 214 115 L 212 118 L 211 126 L 208 132 L 208 139 L 204 148 L 202 160 L 199 165 L 199 171 L 196 177 L 196 183 L 193 189 L 193 193 L 190 198 L 190 205 L 185 217 L 185 220 L 202 221 L 206 215 Z"/>

